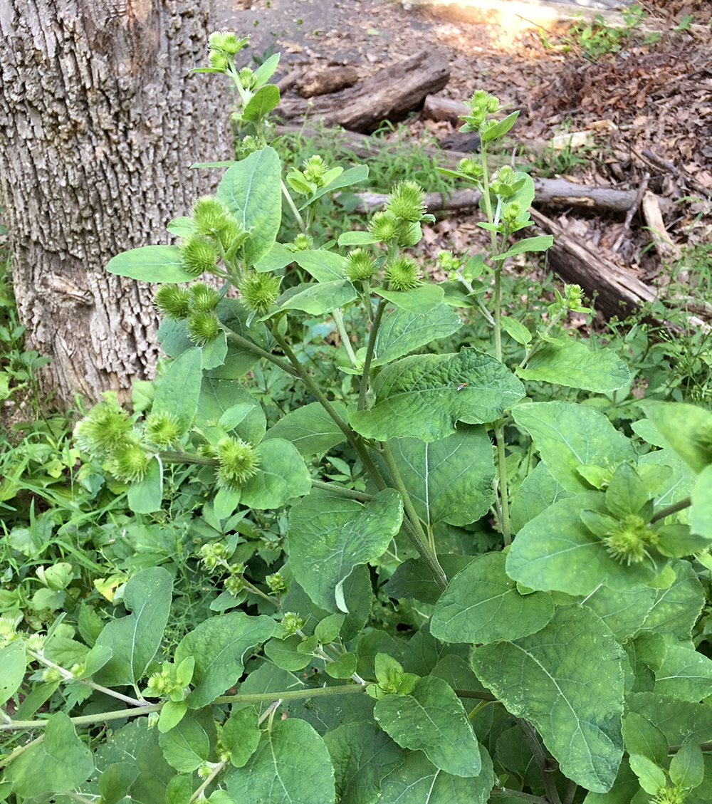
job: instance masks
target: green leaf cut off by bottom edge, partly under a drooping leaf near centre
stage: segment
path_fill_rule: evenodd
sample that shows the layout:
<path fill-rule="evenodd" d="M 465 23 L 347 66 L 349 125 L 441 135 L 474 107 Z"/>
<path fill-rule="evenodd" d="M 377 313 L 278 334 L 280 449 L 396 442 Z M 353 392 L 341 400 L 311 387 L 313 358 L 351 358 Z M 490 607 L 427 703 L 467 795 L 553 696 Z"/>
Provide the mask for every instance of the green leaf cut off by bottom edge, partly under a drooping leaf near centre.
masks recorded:
<path fill-rule="evenodd" d="M 480 775 L 463 777 L 445 773 L 423 753 L 413 751 L 403 765 L 383 779 L 380 801 L 383 804 L 487 804 L 494 786 L 494 773 L 489 754 L 483 748 L 480 753 Z"/>

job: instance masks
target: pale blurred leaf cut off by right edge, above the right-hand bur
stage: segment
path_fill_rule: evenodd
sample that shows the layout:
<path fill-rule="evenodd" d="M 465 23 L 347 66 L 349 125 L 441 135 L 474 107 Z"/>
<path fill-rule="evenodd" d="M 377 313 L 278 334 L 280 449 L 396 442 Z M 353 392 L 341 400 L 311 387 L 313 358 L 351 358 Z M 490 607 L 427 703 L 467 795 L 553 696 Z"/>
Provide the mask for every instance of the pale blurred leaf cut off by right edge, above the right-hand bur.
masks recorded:
<path fill-rule="evenodd" d="M 642 407 L 694 472 L 700 474 L 712 463 L 712 412 L 680 402 L 645 402 Z"/>

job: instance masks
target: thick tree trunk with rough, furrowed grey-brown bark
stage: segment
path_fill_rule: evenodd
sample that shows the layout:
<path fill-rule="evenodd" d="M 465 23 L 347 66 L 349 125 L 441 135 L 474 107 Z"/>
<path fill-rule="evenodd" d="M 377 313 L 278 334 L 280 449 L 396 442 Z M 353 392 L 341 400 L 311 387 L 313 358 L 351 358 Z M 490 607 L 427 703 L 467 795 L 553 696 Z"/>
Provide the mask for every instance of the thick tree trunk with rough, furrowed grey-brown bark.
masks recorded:
<path fill-rule="evenodd" d="M 192 162 L 231 156 L 223 76 L 207 64 L 211 0 L 0 0 L 0 187 L 26 348 L 43 390 L 129 396 L 151 379 L 148 285 L 106 273 L 166 243 L 214 188 Z M 223 93 L 223 100 L 219 100 Z"/>

